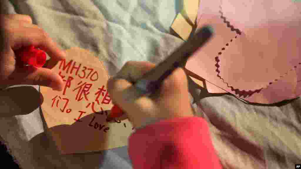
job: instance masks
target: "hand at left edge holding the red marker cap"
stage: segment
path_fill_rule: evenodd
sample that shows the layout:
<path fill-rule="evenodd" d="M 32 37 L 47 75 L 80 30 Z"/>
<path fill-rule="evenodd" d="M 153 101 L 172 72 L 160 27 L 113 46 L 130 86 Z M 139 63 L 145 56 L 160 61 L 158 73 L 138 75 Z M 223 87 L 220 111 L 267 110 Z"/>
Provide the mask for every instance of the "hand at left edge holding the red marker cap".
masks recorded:
<path fill-rule="evenodd" d="M 65 53 L 52 41 L 48 34 L 32 23 L 27 15 L 1 15 L 4 26 L 4 45 L 0 52 L 0 88 L 16 84 L 42 85 L 61 91 L 62 78 L 53 68 L 59 60 L 65 59 Z M 17 63 L 14 51 L 34 45 L 45 51 L 51 59 L 46 68 L 23 66 Z"/>

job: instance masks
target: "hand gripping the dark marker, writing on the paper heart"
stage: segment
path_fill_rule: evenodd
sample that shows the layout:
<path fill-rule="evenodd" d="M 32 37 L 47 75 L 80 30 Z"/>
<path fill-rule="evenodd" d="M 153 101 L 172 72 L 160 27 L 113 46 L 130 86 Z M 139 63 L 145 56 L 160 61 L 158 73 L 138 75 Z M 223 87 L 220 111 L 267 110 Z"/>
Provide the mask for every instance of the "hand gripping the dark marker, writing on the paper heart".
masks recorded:
<path fill-rule="evenodd" d="M 110 78 L 107 84 L 114 103 L 126 112 L 135 128 L 163 119 L 193 116 L 187 77 L 182 68 L 172 72 L 163 81 L 160 90 L 150 97 L 142 96 L 129 82 L 130 79 L 141 77 L 154 66 L 150 62 L 127 62 L 116 77 Z"/>

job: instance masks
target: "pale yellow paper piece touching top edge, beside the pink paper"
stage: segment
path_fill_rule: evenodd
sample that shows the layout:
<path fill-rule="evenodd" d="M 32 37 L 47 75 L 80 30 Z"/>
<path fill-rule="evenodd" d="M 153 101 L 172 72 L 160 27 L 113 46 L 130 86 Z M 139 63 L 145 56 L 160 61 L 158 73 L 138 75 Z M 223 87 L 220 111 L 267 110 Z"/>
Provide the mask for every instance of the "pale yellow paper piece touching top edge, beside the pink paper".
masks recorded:
<path fill-rule="evenodd" d="M 194 25 L 197 18 L 197 10 L 199 7 L 199 0 L 184 0 L 182 15 L 191 25 Z"/>

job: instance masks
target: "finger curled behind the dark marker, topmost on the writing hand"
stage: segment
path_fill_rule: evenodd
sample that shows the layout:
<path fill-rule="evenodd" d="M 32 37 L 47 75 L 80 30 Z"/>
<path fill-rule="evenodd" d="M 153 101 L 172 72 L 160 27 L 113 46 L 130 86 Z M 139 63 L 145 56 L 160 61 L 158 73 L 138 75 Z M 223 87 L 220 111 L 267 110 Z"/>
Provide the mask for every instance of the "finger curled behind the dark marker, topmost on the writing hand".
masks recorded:
<path fill-rule="evenodd" d="M 123 78 L 131 82 L 136 81 L 154 67 L 155 64 L 151 62 L 128 61 L 117 73 L 116 77 Z"/>

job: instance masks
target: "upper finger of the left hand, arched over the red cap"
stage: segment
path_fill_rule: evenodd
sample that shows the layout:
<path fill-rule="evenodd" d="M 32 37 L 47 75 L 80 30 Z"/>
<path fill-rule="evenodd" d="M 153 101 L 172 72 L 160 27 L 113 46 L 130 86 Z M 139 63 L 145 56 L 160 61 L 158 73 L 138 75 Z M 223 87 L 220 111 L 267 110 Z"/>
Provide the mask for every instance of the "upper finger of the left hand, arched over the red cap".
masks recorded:
<path fill-rule="evenodd" d="M 49 57 L 51 57 L 47 68 L 51 69 L 58 61 L 65 59 L 65 52 L 57 46 L 57 44 L 43 29 L 36 27 L 23 27 L 20 29 L 14 29 L 14 32 L 11 32 L 10 46 L 13 50 L 17 50 L 20 46 L 29 45 L 34 45 L 42 49 L 49 55 Z"/>

